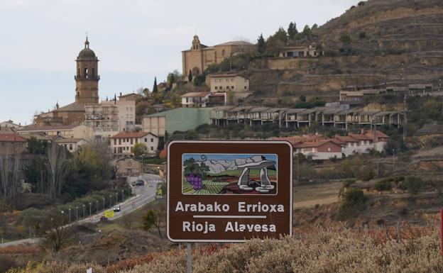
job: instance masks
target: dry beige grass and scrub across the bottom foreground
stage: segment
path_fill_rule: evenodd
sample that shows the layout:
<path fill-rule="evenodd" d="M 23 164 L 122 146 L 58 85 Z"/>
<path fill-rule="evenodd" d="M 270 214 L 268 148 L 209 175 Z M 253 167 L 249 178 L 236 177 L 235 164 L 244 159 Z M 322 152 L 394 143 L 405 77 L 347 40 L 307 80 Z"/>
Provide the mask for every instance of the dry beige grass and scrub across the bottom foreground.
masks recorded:
<path fill-rule="evenodd" d="M 439 232 L 430 228 L 407 230 L 405 240 L 392 236 L 355 233 L 349 230 L 313 230 L 302 238 L 251 240 L 226 247 L 209 245 L 195 249 L 195 273 L 439 273 Z M 392 230 L 389 230 L 391 233 Z M 405 231 L 406 232 L 406 231 Z M 98 273 L 182 273 L 185 250 L 152 253 L 111 267 L 94 264 L 47 262 L 9 273 L 84 272 L 94 267 Z M 120 271 L 118 271 L 120 270 Z"/>

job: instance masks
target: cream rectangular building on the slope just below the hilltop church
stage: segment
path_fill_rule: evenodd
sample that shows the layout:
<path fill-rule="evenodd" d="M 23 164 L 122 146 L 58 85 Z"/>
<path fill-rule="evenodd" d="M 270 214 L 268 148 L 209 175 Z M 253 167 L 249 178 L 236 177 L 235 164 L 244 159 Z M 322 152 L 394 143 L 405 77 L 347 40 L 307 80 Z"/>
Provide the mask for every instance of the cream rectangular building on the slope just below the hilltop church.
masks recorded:
<path fill-rule="evenodd" d="M 211 88 L 211 92 L 246 92 L 249 91 L 249 79 L 239 74 L 209 74 L 207 82 Z"/>

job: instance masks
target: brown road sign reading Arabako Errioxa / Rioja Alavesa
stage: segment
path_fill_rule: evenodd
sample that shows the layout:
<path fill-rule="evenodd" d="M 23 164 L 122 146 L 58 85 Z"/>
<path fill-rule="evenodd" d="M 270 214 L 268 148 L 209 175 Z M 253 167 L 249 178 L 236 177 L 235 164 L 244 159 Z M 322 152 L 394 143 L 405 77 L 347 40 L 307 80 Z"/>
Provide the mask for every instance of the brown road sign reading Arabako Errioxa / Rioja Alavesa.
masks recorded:
<path fill-rule="evenodd" d="M 169 143 L 167 230 L 173 242 L 242 242 L 292 235 L 292 145 Z"/>

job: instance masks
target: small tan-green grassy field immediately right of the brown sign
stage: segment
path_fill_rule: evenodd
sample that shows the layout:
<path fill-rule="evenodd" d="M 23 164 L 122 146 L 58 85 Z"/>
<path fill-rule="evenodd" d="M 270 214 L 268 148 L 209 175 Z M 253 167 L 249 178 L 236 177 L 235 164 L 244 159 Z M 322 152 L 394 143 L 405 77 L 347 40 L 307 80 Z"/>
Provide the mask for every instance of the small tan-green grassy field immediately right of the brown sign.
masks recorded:
<path fill-rule="evenodd" d="M 316 204 L 332 204 L 339 201 L 341 182 L 294 186 L 294 208 L 307 208 Z"/>

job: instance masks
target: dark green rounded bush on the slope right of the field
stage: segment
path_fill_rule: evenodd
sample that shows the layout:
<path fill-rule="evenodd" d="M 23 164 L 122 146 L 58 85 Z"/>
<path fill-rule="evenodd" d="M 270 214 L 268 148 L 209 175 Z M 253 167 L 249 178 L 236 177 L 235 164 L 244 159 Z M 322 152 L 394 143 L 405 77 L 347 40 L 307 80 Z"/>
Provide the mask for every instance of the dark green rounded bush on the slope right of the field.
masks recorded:
<path fill-rule="evenodd" d="M 365 208 L 366 196 L 361 189 L 350 189 L 344 194 L 343 202 L 339 207 L 339 219 L 352 218 Z"/>

